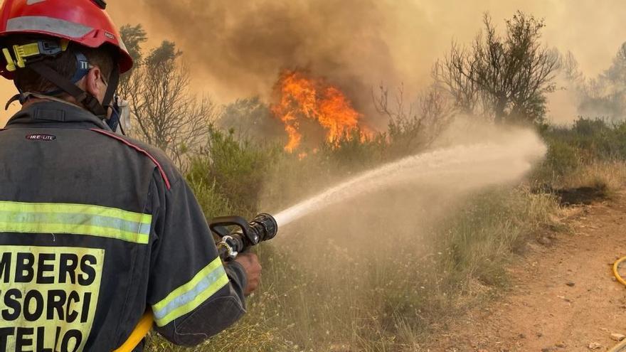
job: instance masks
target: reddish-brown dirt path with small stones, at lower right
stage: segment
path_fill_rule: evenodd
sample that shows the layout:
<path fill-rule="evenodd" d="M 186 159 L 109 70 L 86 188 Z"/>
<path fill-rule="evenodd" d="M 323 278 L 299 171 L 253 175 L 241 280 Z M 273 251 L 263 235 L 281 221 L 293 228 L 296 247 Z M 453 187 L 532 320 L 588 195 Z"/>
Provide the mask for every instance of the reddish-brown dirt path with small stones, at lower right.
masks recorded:
<path fill-rule="evenodd" d="M 607 351 L 626 335 L 626 288 L 610 264 L 626 255 L 626 194 L 585 206 L 571 233 L 532 244 L 511 268 L 510 292 L 450 326 L 429 351 Z"/>

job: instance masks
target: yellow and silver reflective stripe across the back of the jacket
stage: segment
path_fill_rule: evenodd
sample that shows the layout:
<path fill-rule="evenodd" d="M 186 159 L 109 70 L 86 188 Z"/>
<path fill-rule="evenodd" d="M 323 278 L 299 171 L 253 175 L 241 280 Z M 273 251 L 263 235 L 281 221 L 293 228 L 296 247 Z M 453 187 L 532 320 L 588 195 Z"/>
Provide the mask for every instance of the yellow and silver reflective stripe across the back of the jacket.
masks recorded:
<path fill-rule="evenodd" d="M 150 214 L 103 206 L 0 201 L 4 233 L 66 233 L 147 244 L 151 223 Z"/>

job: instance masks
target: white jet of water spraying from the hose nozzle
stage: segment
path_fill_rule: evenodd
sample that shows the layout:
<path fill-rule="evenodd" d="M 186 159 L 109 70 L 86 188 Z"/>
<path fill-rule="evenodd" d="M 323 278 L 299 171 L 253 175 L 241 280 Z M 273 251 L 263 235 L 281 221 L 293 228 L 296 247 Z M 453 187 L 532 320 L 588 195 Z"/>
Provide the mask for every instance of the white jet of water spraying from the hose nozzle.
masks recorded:
<path fill-rule="evenodd" d="M 334 204 L 403 184 L 439 184 L 463 191 L 509 183 L 529 172 L 545 154 L 546 146 L 531 130 L 502 132 L 497 142 L 437 149 L 379 166 L 282 210 L 275 219 L 283 228 Z"/>

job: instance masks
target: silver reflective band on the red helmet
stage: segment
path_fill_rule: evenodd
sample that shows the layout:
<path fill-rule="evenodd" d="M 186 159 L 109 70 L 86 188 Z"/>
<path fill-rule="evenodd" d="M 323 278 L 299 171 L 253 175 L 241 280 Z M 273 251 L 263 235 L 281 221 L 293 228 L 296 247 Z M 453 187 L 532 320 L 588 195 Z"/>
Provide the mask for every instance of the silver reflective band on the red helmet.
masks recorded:
<path fill-rule="evenodd" d="M 58 18 L 23 16 L 9 19 L 6 23 L 6 31 L 43 31 L 70 38 L 82 38 L 93 31 L 93 28 Z"/>

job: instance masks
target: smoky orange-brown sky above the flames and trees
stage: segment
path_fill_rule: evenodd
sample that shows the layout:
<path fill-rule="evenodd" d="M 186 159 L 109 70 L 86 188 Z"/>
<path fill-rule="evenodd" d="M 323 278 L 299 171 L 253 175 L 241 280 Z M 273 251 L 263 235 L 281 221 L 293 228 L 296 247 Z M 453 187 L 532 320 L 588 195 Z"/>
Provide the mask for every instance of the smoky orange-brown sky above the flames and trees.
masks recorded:
<path fill-rule="evenodd" d="M 622 0 L 108 2 L 118 25 L 144 25 L 149 46 L 175 41 L 193 70 L 194 90 L 223 103 L 252 95 L 268 99 L 280 70 L 308 68 L 339 85 L 358 109 L 368 112 L 371 89 L 381 82 L 402 82 L 410 94 L 428 85 L 434 61 L 452 40 L 469 43 L 485 11 L 500 29 L 516 10 L 545 18 L 545 43 L 571 50 L 589 76 L 608 68 L 626 41 Z M 0 100 L 13 94 L 11 82 L 2 82 Z M 553 121 L 575 117 L 563 93 L 551 97 L 549 108 Z M 0 123 L 8 116 L 5 112 Z"/>

